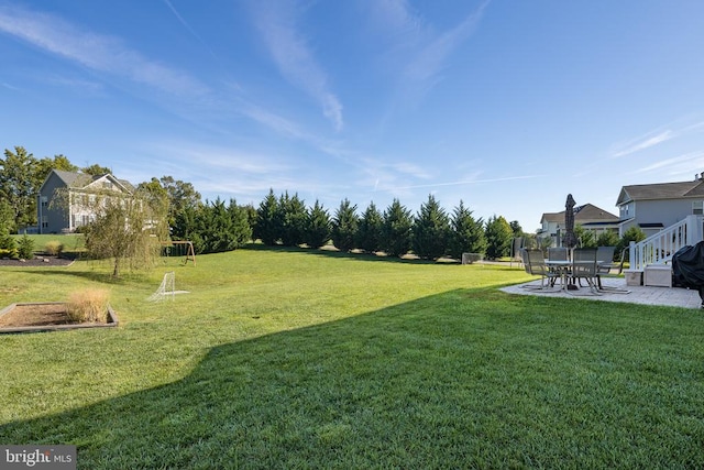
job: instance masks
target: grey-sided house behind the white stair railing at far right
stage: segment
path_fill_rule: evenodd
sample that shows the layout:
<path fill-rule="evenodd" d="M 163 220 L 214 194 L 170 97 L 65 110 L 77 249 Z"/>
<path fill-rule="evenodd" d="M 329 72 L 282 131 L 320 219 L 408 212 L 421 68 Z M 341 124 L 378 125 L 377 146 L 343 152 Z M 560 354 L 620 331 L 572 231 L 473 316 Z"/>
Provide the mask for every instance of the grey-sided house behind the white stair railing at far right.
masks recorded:
<path fill-rule="evenodd" d="M 704 214 L 704 174 L 693 181 L 624 186 L 616 206 L 619 211 L 619 236 L 639 227 L 647 236 Z"/>

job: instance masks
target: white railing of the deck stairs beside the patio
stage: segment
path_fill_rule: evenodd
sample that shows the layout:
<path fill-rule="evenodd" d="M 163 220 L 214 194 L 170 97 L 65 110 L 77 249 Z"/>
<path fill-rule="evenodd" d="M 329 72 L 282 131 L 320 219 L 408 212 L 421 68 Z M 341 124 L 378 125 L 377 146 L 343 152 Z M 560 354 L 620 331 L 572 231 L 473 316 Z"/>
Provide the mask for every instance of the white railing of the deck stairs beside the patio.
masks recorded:
<path fill-rule="evenodd" d="M 660 230 L 638 243 L 631 241 L 629 247 L 630 269 L 642 271 L 648 264 L 664 264 L 682 247 L 693 245 L 702 241 L 704 236 L 704 217 L 688 216 L 684 220 Z"/>

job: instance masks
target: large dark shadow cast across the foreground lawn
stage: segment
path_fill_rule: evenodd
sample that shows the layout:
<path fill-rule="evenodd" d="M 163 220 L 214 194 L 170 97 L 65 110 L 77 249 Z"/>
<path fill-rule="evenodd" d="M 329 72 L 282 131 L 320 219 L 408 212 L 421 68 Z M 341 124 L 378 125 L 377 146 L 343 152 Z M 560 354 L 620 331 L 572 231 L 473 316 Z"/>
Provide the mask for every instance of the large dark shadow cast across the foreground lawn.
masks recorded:
<path fill-rule="evenodd" d="M 704 461 L 701 371 L 671 389 L 672 370 L 684 372 L 670 349 L 649 364 L 664 381 L 656 386 L 636 372 L 659 341 L 632 345 L 624 331 L 661 338 L 660 328 L 624 320 L 618 306 L 556 311 L 564 305 L 452 291 L 227 343 L 183 380 L 6 424 L 0 442 L 74 444 L 79 468 L 114 469 Z M 668 348 L 686 351 L 691 327 L 670 331 Z M 635 371 L 614 375 L 630 361 Z"/>

